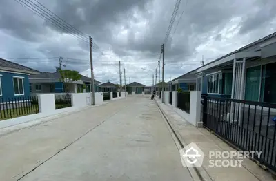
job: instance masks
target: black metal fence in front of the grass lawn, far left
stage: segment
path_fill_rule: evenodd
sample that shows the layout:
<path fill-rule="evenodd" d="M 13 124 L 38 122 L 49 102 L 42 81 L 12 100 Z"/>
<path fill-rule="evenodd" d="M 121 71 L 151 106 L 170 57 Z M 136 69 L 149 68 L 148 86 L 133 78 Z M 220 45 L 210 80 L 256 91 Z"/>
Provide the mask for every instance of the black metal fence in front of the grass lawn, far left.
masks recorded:
<path fill-rule="evenodd" d="M 0 99 L 0 120 L 39 113 L 37 96 Z"/>

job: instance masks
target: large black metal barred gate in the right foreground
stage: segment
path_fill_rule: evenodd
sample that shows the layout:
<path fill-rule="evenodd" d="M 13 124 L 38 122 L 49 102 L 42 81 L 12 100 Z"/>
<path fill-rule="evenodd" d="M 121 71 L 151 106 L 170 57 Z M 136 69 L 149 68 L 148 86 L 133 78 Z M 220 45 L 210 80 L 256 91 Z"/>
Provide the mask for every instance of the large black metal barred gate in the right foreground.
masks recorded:
<path fill-rule="evenodd" d="M 255 160 L 276 171 L 276 104 L 203 96 L 203 123 Z"/>

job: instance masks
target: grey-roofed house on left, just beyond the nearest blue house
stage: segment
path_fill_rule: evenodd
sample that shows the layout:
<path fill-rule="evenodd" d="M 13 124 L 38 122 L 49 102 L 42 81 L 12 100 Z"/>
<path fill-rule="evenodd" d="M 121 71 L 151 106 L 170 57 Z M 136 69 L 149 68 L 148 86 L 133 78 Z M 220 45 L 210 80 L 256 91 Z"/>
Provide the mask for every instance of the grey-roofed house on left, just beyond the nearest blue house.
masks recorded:
<path fill-rule="evenodd" d="M 71 82 L 70 80 L 61 81 L 59 72 L 42 72 L 41 74 L 31 75 L 30 91 L 32 94 L 41 93 L 77 93 L 91 92 L 91 78 L 81 75 L 81 79 Z M 95 80 L 95 92 L 98 91 L 99 81 Z"/>

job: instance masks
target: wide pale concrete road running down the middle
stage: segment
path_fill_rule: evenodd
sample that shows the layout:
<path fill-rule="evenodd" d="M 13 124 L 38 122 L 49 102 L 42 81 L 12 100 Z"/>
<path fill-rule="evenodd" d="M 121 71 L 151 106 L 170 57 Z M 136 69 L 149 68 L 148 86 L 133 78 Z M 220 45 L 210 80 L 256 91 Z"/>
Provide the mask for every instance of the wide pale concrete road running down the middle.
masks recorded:
<path fill-rule="evenodd" d="M 0 180 L 193 180 L 157 105 L 111 101 L 0 137 Z"/>

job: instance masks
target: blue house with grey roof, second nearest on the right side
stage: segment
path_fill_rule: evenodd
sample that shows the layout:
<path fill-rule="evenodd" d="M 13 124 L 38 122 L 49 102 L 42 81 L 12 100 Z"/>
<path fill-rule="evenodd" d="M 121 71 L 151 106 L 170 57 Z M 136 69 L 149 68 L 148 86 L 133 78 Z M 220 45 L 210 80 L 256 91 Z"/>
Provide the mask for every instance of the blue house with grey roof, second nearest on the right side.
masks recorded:
<path fill-rule="evenodd" d="M 170 91 L 177 91 L 179 88 L 183 91 L 193 91 L 196 88 L 196 84 L 197 76 L 195 70 L 193 70 L 169 81 L 168 87 Z"/>

